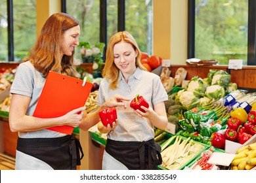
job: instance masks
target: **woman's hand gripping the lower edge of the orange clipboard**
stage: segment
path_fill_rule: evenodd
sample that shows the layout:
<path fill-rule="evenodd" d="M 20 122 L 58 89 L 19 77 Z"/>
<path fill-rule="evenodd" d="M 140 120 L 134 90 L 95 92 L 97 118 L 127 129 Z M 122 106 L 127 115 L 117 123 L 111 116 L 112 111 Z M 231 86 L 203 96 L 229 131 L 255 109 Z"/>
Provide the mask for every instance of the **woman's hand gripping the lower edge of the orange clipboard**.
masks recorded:
<path fill-rule="evenodd" d="M 62 118 L 64 118 L 64 124 L 62 125 L 70 125 L 72 127 L 79 126 L 83 118 L 83 110 L 85 109 L 86 107 L 75 108 L 74 110 L 71 110 L 70 112 L 62 116 Z"/>

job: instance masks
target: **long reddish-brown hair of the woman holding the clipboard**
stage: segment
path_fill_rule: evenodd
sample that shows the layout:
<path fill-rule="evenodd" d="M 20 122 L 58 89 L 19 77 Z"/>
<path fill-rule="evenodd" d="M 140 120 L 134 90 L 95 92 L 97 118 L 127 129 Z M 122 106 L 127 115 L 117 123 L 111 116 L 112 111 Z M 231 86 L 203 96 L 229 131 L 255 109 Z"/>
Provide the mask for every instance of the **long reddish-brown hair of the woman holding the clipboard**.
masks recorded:
<path fill-rule="evenodd" d="M 73 64 L 75 52 L 72 52 L 72 56 L 64 55 L 60 58 L 62 35 L 77 25 L 79 22 L 66 13 L 59 12 L 51 15 L 43 25 L 41 34 L 30 50 L 28 58 L 23 61 L 30 60 L 35 69 L 43 73 L 45 78 L 49 71 L 77 77 Z"/>

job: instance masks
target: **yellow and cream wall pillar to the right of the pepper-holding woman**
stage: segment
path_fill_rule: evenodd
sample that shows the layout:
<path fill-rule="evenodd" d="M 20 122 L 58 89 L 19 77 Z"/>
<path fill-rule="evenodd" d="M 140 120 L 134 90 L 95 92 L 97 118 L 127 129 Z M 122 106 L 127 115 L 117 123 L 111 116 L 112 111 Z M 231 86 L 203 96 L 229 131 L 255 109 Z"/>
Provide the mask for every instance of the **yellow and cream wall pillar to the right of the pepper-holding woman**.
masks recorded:
<path fill-rule="evenodd" d="M 153 54 L 171 64 L 186 63 L 187 7 L 187 0 L 154 1 Z"/>

